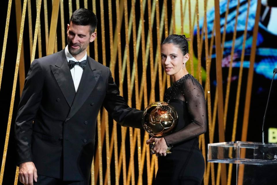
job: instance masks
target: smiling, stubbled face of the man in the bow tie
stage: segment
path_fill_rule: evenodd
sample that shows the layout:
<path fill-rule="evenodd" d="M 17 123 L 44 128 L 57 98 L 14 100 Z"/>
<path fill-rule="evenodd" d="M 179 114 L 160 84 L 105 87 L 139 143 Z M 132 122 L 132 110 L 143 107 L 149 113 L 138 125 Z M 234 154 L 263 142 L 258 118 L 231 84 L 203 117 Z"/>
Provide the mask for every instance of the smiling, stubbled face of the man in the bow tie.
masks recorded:
<path fill-rule="evenodd" d="M 70 22 L 67 25 L 67 43 L 69 53 L 76 58 L 87 50 L 89 42 L 96 38 L 96 32 L 90 34 L 90 26 L 75 25 Z"/>

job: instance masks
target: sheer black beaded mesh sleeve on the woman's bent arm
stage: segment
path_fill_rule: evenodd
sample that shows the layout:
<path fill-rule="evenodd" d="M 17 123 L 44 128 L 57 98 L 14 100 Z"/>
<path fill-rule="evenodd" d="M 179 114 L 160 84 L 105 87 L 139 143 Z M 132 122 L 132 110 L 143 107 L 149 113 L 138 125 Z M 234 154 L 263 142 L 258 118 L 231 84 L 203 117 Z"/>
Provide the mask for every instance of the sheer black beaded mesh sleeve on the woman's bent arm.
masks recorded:
<path fill-rule="evenodd" d="M 191 123 L 177 132 L 164 136 L 168 145 L 175 145 L 206 132 L 206 101 L 201 84 L 192 77 L 184 81 L 180 90 L 182 93 L 178 93 L 179 97 L 175 98 L 186 102 Z"/>

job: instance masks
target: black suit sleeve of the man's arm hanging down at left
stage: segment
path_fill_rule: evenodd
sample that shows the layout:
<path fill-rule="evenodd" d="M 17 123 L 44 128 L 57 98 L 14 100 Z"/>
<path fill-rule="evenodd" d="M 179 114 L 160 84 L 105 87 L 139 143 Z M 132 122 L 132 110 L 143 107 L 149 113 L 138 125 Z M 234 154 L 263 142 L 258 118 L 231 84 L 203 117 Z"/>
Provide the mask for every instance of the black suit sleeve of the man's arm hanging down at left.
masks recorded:
<path fill-rule="evenodd" d="M 40 63 L 37 60 L 34 60 L 25 79 L 25 85 L 15 122 L 18 164 L 32 161 L 31 138 L 33 132 L 33 121 L 42 99 L 42 87 L 42 68 Z"/>

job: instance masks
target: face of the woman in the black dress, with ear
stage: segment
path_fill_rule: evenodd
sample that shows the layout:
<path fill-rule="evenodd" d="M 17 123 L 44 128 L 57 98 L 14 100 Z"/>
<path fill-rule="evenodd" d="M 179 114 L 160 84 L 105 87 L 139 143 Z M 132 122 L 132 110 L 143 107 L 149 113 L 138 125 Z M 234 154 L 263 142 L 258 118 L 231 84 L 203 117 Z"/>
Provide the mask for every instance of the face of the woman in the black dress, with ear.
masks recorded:
<path fill-rule="evenodd" d="M 162 66 L 167 75 L 182 75 L 183 64 L 187 62 L 189 54 L 183 56 L 181 50 L 174 44 L 163 44 L 161 48 Z M 186 66 L 184 66 L 186 70 Z"/>

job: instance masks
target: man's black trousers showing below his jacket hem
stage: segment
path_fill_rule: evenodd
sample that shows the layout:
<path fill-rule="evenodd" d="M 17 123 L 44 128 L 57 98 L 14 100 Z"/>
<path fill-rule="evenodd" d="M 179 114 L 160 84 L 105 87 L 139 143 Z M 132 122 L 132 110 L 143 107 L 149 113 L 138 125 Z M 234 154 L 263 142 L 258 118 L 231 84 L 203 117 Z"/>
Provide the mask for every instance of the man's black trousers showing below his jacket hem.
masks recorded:
<path fill-rule="evenodd" d="M 19 181 L 18 181 L 19 182 Z M 18 184 L 21 184 L 20 182 Z M 88 181 L 63 181 L 53 177 L 38 175 L 37 182 L 34 185 L 88 185 Z"/>

